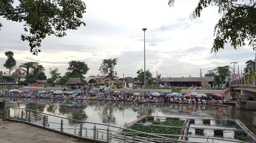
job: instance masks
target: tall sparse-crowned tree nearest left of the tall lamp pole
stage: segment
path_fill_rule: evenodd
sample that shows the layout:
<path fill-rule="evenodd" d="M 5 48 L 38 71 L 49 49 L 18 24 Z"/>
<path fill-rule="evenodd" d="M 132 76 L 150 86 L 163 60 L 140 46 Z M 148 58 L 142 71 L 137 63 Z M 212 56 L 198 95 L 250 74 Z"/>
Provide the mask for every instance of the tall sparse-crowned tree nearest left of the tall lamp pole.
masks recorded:
<path fill-rule="evenodd" d="M 115 75 L 117 75 L 117 73 L 114 71 L 117 62 L 118 58 L 104 59 L 99 67 L 100 73 L 106 75 L 106 78 L 114 78 Z"/>

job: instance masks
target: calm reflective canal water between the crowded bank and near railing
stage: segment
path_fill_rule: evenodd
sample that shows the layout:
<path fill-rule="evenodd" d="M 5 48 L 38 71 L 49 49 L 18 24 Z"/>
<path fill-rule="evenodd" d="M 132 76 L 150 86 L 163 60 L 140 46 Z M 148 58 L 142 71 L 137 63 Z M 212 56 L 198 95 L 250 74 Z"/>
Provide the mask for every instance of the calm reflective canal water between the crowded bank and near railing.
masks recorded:
<path fill-rule="evenodd" d="M 1 98 L 0 98 L 1 99 Z M 235 106 L 188 105 L 177 103 L 144 103 L 98 100 L 62 100 L 34 98 L 9 99 L 12 107 L 29 108 L 60 117 L 122 127 L 143 115 L 176 116 L 187 118 L 240 119 L 256 134 L 252 125 L 253 110 Z"/>

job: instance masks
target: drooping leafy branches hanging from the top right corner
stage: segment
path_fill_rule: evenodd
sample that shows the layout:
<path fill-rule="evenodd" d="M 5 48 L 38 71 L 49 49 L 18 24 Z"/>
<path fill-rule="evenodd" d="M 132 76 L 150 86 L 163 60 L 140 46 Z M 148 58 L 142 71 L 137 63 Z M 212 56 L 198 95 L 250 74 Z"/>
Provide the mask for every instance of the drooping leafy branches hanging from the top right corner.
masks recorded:
<path fill-rule="evenodd" d="M 173 6 L 174 0 L 169 0 L 169 6 Z M 231 43 L 234 49 L 246 45 L 256 50 L 256 2 L 254 0 L 199 0 L 196 9 L 190 15 L 191 19 L 200 17 L 204 8 L 214 5 L 219 8 L 222 17 L 215 25 L 214 45 L 211 52 L 224 49 L 225 43 Z"/>

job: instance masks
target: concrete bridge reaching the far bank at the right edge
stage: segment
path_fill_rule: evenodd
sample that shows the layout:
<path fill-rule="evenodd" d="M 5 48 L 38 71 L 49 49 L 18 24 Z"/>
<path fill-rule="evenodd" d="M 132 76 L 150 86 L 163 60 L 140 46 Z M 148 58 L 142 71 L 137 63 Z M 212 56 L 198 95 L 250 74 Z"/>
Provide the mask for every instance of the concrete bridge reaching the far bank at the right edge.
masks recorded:
<path fill-rule="evenodd" d="M 256 77 L 251 84 L 246 83 L 245 78 L 235 79 L 230 82 L 230 96 L 233 98 L 255 98 L 256 97 Z"/>

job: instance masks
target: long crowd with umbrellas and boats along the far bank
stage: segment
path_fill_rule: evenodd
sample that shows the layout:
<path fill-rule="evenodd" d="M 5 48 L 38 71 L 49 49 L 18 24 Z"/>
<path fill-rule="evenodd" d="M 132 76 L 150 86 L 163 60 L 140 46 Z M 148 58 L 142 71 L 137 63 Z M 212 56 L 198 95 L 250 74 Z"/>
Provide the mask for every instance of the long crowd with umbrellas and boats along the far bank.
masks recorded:
<path fill-rule="evenodd" d="M 51 99 L 72 99 L 72 100 L 112 100 L 112 101 L 139 101 L 139 102 L 172 102 L 182 104 L 206 104 L 211 98 L 200 94 L 178 93 L 123 93 L 119 91 L 101 92 L 86 91 L 5 91 L 0 96 L 27 97 L 27 98 L 51 98 Z M 214 98 L 213 100 L 215 100 Z"/>

